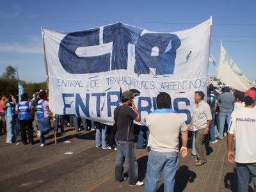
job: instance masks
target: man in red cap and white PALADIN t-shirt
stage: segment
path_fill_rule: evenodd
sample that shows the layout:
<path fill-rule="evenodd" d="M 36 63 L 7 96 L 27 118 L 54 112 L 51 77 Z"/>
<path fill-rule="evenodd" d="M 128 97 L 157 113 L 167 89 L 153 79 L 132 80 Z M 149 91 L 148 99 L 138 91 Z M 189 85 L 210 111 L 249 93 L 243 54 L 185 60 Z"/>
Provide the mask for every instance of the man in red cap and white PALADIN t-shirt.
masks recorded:
<path fill-rule="evenodd" d="M 245 107 L 231 115 L 228 127 L 228 161 L 236 161 L 238 191 L 248 191 L 250 179 L 256 191 L 256 91 L 244 93 Z M 236 157 L 232 141 L 236 136 Z M 235 158 L 234 158 L 235 157 Z"/>

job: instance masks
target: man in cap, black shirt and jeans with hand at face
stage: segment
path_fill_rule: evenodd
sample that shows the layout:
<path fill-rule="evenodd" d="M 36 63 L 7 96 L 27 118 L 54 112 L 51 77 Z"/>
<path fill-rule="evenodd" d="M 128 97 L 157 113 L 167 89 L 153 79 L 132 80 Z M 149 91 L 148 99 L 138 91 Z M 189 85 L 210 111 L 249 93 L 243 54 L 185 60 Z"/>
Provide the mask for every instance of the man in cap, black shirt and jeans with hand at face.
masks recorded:
<path fill-rule="evenodd" d="M 138 163 L 134 150 L 134 127 L 133 120 L 140 122 L 140 113 L 136 108 L 134 93 L 126 91 L 122 93 L 120 106 L 114 111 L 114 123 L 116 123 L 116 182 L 126 180 L 124 177 L 124 162 L 127 163 L 129 186 L 142 186 L 144 183 L 138 180 Z"/>

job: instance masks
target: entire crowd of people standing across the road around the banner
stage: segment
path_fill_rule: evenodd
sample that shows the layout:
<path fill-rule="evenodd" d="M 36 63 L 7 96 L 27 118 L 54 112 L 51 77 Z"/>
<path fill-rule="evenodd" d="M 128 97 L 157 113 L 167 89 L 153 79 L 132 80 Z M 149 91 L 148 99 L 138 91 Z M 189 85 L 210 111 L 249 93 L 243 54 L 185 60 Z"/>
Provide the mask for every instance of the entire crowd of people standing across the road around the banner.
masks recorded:
<path fill-rule="evenodd" d="M 141 116 L 134 105 L 134 97 L 134 93 L 129 90 L 122 93 L 122 102 L 114 111 L 114 125 L 109 126 L 77 116 L 51 115 L 47 92 L 44 90 L 35 90 L 32 99 L 24 93 L 19 102 L 13 95 L 3 95 L 0 98 L 0 134 L 6 132 L 6 143 L 14 143 L 20 134 L 24 145 L 33 145 L 33 132 L 36 132 L 40 147 L 44 147 L 45 134 L 51 129 L 54 134 L 59 129 L 62 134 L 65 125 L 74 125 L 76 131 L 96 129 L 95 147 L 116 150 L 116 182 L 127 179 L 124 176 L 126 162 L 129 185 L 142 186 L 143 182 L 138 180 L 134 150 L 134 120 L 140 122 Z M 146 117 L 146 126 L 139 127 L 136 147 L 146 148 L 149 152 L 145 191 L 156 191 L 161 175 L 164 191 L 173 191 L 178 153 L 182 157 L 188 155 L 189 136 L 192 140 L 191 154 L 196 156 L 195 165 L 202 166 L 207 163 L 205 143 L 217 143 L 227 134 L 228 161 L 237 163 L 239 191 L 248 189 L 250 179 L 256 186 L 256 88 L 243 93 L 230 90 L 228 86 L 216 88 L 209 84 L 207 99 L 202 91 L 196 91 L 194 99 L 193 116 L 189 125 L 186 125 L 182 116 L 172 109 L 170 95 L 159 93 L 156 98 L 157 109 Z M 236 157 L 232 148 L 233 138 L 236 138 Z"/>

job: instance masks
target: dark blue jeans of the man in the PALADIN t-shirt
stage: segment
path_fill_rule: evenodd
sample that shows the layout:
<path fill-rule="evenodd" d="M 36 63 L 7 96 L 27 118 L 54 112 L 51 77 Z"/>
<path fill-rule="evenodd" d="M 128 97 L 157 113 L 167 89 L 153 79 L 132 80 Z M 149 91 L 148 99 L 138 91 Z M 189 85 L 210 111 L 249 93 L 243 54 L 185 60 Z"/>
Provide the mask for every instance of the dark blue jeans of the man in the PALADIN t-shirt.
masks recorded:
<path fill-rule="evenodd" d="M 248 184 L 252 179 L 256 191 L 256 163 L 236 163 L 238 192 L 248 191 Z"/>

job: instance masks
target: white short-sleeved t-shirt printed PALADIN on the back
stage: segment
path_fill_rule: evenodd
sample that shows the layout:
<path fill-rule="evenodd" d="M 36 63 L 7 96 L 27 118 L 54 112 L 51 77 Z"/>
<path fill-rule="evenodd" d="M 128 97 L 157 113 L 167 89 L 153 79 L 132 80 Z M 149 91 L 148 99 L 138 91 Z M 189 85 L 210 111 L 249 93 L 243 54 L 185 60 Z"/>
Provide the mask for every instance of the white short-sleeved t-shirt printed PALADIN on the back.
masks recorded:
<path fill-rule="evenodd" d="M 241 108 L 231 115 L 228 133 L 236 136 L 237 163 L 256 163 L 256 109 Z"/>

